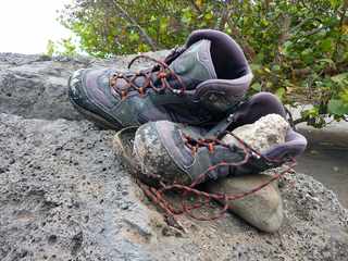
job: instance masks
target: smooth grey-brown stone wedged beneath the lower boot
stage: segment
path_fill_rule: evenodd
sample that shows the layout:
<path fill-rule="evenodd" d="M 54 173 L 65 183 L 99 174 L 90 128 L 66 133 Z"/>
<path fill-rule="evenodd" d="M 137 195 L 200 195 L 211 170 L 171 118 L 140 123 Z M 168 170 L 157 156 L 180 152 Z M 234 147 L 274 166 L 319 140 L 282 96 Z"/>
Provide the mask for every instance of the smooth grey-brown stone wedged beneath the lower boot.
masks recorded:
<path fill-rule="evenodd" d="M 254 174 L 238 177 L 227 177 L 210 182 L 207 189 L 210 192 L 236 195 L 249 191 L 272 178 L 265 174 Z M 237 214 L 249 224 L 264 232 L 276 232 L 283 222 L 283 203 L 277 183 L 228 202 L 229 211 Z"/>

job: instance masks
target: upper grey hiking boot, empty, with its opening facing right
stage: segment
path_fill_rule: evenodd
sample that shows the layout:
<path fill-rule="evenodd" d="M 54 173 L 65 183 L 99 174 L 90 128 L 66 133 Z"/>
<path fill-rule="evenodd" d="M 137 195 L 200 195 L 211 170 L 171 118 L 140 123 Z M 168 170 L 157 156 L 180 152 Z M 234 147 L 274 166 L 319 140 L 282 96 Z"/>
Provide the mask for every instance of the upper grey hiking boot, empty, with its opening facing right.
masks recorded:
<path fill-rule="evenodd" d="M 216 30 L 194 32 L 183 48 L 156 63 L 140 72 L 76 71 L 69 82 L 70 100 L 107 128 L 160 120 L 210 126 L 236 109 L 252 78 L 240 47 Z"/>

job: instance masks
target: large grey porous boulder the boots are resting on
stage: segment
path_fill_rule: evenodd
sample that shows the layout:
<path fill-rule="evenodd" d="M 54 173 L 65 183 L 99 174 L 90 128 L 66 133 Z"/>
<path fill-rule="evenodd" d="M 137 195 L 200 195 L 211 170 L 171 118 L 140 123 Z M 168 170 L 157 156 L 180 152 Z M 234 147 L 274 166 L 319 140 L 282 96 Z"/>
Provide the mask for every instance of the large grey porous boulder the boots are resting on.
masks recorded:
<path fill-rule="evenodd" d="M 299 173 L 279 182 L 275 234 L 232 214 L 170 226 L 120 167 L 114 132 L 67 101 L 73 70 L 125 61 L 0 54 L 0 260 L 347 260 L 347 210 Z"/>

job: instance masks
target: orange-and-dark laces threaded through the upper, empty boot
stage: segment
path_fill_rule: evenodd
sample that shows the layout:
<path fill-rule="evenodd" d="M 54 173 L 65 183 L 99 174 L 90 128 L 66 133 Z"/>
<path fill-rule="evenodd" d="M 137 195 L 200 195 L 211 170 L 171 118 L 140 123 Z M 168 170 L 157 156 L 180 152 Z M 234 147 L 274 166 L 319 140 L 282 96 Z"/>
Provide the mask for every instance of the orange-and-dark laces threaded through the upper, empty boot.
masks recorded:
<path fill-rule="evenodd" d="M 167 64 L 174 61 L 184 51 L 184 48 L 176 48 L 165 58 L 164 61 L 160 61 L 145 54 L 137 55 L 129 62 L 128 69 L 130 69 L 132 64 L 139 59 L 150 60 L 157 65 L 154 65 L 150 70 L 141 70 L 139 72 L 136 72 L 135 74 L 132 74 L 132 76 L 116 72 L 110 78 L 110 87 L 116 94 L 119 94 L 122 99 L 125 99 L 132 90 L 138 91 L 140 97 L 142 97 L 146 94 L 146 90 L 149 88 L 152 88 L 156 92 L 161 92 L 164 89 L 169 89 L 173 94 L 183 95 L 186 90 L 185 84 L 183 79 Z M 156 74 L 154 78 L 153 73 Z M 136 79 L 138 77 L 145 78 L 142 86 L 138 86 L 136 84 Z M 176 79 L 179 83 L 179 88 L 173 88 L 169 82 L 169 78 Z M 117 86 L 119 79 L 124 79 L 126 84 Z M 154 83 L 158 82 L 158 79 L 160 79 L 161 82 L 159 86 L 157 86 Z"/>

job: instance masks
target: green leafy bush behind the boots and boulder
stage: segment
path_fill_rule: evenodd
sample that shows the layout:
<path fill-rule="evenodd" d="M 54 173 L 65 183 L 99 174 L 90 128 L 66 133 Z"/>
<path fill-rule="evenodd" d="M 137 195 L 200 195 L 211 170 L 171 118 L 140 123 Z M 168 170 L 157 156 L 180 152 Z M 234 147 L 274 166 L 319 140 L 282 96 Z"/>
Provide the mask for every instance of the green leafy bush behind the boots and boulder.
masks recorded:
<path fill-rule="evenodd" d="M 100 58 L 169 49 L 198 28 L 224 30 L 251 64 L 251 92 L 310 103 L 298 122 L 322 127 L 327 115 L 347 121 L 347 9 L 348 0 L 75 0 L 60 21 Z"/>

